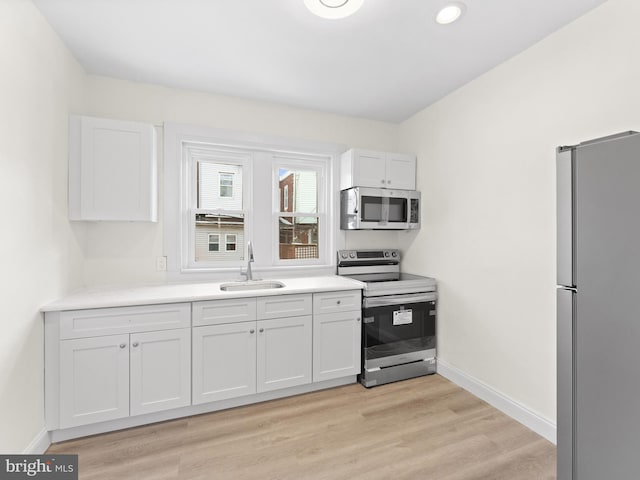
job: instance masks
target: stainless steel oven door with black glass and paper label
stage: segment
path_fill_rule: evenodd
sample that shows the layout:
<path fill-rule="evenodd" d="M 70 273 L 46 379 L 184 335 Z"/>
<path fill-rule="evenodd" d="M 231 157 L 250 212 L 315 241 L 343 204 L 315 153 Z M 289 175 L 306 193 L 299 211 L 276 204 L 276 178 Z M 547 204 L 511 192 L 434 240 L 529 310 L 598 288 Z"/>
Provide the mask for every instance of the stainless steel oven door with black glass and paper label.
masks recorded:
<path fill-rule="evenodd" d="M 435 358 L 435 293 L 365 297 L 362 313 L 365 369 Z"/>

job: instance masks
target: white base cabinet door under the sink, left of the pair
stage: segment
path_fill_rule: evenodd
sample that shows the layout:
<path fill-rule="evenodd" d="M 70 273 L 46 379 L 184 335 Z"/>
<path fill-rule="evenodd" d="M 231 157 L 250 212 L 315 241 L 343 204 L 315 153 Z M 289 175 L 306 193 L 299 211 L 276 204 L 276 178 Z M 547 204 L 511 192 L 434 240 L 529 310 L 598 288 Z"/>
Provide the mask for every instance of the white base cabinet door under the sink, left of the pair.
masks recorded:
<path fill-rule="evenodd" d="M 193 328 L 193 404 L 256 392 L 256 322 Z"/>

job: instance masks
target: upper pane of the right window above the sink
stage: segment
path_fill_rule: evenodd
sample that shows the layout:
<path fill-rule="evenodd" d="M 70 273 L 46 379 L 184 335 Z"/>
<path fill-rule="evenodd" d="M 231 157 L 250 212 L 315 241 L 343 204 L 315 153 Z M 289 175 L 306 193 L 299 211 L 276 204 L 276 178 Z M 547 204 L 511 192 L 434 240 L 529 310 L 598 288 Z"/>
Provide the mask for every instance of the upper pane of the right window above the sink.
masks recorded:
<path fill-rule="evenodd" d="M 318 213 L 318 174 L 314 170 L 280 168 L 280 211 Z"/>

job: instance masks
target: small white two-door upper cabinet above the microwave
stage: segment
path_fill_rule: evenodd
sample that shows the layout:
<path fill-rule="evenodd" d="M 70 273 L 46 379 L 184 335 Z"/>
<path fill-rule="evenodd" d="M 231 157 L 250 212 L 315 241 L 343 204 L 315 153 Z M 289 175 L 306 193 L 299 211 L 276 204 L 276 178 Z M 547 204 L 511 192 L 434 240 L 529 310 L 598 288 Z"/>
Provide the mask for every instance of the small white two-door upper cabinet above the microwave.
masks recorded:
<path fill-rule="evenodd" d="M 340 189 L 351 187 L 416 189 L 416 157 L 403 153 L 352 149 L 342 154 Z"/>

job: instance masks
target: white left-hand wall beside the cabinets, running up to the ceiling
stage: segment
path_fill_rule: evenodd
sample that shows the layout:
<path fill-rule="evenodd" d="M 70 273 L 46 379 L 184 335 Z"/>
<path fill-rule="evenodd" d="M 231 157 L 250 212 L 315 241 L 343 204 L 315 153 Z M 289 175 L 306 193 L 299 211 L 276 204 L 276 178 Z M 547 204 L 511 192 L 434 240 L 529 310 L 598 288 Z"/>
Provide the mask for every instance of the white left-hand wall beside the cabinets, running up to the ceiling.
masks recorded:
<path fill-rule="evenodd" d="M 28 0 L 0 2 L 0 452 L 44 429 L 39 308 L 81 278 L 66 220 L 67 115 L 84 73 Z"/>

